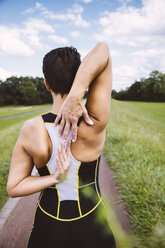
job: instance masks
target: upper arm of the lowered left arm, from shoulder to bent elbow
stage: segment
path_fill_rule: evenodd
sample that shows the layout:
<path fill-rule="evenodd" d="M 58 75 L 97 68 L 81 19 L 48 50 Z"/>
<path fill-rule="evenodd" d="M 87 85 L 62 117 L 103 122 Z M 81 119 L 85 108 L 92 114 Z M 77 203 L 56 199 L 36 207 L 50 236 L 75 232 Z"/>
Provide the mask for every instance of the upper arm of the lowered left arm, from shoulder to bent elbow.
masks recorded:
<path fill-rule="evenodd" d="M 7 183 L 8 192 L 23 179 L 30 176 L 33 169 L 33 159 L 24 146 L 26 144 L 24 134 L 25 132 L 22 130 L 13 150 Z"/>

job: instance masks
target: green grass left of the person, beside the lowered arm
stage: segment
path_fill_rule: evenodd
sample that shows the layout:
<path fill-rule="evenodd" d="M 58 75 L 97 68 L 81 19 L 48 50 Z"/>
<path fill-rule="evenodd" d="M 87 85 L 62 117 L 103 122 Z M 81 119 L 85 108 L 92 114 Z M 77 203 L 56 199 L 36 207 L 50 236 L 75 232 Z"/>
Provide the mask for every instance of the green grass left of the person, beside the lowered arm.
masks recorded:
<path fill-rule="evenodd" d="M 41 106 L 30 106 L 30 111 L 39 110 L 39 109 L 47 109 L 50 108 L 51 105 L 41 105 Z M 18 111 L 16 107 L 9 108 L 0 108 L 1 110 L 6 110 L 7 113 L 4 111 L 4 114 L 13 115 L 15 114 L 15 111 Z M 9 113 L 10 112 L 10 113 Z M 25 111 L 26 112 L 26 111 Z M 36 113 L 36 114 L 29 114 L 22 117 L 17 117 L 13 119 L 8 120 L 0 120 L 0 209 L 5 204 L 6 200 L 8 199 L 8 195 L 6 192 L 6 182 L 9 172 L 9 165 L 11 160 L 11 155 L 13 151 L 13 147 L 15 145 L 15 142 L 18 138 L 18 134 L 20 132 L 20 129 L 23 125 L 23 123 L 31 118 L 34 118 L 37 115 L 41 115 L 43 112 Z M 17 112 L 18 113 L 18 112 Z"/>

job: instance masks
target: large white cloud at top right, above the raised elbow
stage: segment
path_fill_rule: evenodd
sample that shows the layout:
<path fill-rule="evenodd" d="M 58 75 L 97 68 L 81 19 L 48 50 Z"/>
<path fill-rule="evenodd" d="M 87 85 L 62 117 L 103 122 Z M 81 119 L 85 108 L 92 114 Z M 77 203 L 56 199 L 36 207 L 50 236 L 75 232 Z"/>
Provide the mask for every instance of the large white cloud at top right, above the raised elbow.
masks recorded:
<path fill-rule="evenodd" d="M 123 6 L 115 12 L 106 11 L 99 19 L 102 31 L 95 37 L 134 47 L 163 44 L 164 16 L 164 0 L 143 0 L 141 9 Z"/>

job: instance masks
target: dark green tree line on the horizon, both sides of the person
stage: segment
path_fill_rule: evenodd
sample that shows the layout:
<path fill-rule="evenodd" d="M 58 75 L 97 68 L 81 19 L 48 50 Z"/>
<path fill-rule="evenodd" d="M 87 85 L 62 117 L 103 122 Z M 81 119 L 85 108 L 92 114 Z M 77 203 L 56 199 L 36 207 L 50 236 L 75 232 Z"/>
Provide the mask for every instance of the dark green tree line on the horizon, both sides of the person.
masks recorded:
<path fill-rule="evenodd" d="M 87 96 L 87 92 L 85 94 Z M 135 81 L 126 90 L 112 90 L 118 100 L 165 102 L 165 73 L 152 71 L 148 78 Z M 0 80 L 0 106 L 52 103 L 42 77 L 10 77 Z"/>

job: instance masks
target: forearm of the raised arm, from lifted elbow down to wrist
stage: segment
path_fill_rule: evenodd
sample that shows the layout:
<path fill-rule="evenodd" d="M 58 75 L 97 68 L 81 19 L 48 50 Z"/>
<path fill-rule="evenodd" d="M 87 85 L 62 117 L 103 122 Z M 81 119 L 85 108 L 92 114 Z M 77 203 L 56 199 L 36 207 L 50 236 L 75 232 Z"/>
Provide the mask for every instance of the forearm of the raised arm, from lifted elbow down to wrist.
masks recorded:
<path fill-rule="evenodd" d="M 68 97 L 81 100 L 92 81 L 105 69 L 109 58 L 108 46 L 98 43 L 82 61 Z"/>

